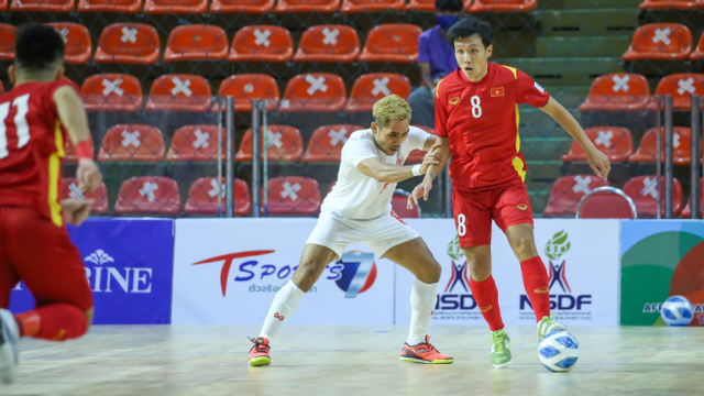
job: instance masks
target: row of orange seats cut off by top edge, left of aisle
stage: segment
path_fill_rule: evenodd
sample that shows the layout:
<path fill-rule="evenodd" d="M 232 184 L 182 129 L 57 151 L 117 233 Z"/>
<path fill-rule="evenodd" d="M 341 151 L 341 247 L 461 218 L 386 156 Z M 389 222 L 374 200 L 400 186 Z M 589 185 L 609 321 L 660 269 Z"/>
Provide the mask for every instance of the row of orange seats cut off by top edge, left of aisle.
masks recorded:
<path fill-rule="evenodd" d="M 0 1 L 0 9 L 7 10 L 9 0 Z M 535 10 L 537 0 L 464 0 L 468 12 L 525 12 Z M 79 0 L 79 12 L 121 12 L 147 14 L 202 14 L 211 13 L 289 13 L 321 12 L 342 13 L 380 12 L 386 10 L 435 11 L 435 0 Z M 12 0 L 10 11 L 70 12 L 76 9 L 74 0 Z"/>

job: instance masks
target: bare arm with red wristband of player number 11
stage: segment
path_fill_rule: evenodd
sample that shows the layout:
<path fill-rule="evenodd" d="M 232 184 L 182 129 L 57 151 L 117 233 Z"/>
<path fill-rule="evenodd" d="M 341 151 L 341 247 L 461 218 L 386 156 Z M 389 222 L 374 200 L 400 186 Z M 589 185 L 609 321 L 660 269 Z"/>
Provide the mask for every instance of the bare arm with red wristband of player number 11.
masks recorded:
<path fill-rule="evenodd" d="M 90 130 L 84 102 L 78 92 L 69 86 L 63 86 L 54 92 L 54 102 L 62 124 L 68 132 L 70 141 L 78 155 L 78 170 L 76 178 L 80 187 L 88 191 L 95 191 L 102 182 L 102 175 L 92 161 L 92 145 L 90 144 Z"/>

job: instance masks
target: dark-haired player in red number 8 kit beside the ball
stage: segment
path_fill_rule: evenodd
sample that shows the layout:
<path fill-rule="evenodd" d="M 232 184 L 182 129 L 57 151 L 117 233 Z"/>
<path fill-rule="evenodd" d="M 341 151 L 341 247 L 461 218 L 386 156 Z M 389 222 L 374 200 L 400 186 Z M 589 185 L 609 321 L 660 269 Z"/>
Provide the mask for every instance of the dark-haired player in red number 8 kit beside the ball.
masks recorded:
<path fill-rule="evenodd" d="M 492 220 L 506 233 L 520 262 L 524 286 L 538 322 L 538 338 L 564 330 L 550 318 L 548 273 L 538 255 L 532 208 L 524 184 L 526 161 L 520 152 L 518 105 L 550 114 L 584 148 L 594 173 L 604 179 L 610 164 L 588 140 L 574 117 L 525 73 L 488 63 L 494 50 L 488 23 L 463 19 L 448 31 L 458 69 L 436 88 L 436 133 L 444 143 L 441 157 L 452 154 L 452 207 L 460 245 L 470 265 L 470 287 L 492 330 L 491 361 L 495 367 L 513 362 L 504 330 L 498 290 L 492 277 Z M 432 165 L 408 199 L 428 198 L 444 164 Z"/>

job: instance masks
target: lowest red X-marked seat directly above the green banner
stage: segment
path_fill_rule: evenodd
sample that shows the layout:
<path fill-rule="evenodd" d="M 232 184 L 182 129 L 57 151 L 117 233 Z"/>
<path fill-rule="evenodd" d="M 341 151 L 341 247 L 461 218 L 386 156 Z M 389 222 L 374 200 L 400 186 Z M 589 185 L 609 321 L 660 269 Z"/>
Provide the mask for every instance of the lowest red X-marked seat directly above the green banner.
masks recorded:
<path fill-rule="evenodd" d="M 624 193 L 634 200 L 638 217 L 653 218 L 658 215 L 658 178 L 654 175 L 637 176 L 629 179 L 624 186 Z M 664 176 L 660 176 L 662 184 L 662 213 L 664 216 Z M 672 215 L 679 216 L 682 211 L 682 185 L 675 178 L 672 179 Z"/>

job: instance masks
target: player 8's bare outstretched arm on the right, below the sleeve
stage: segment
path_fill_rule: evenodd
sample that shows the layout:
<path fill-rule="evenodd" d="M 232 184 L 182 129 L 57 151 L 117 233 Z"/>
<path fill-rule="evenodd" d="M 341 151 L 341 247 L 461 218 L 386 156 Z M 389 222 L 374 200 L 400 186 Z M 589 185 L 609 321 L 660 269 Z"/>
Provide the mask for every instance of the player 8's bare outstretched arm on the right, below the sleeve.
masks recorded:
<path fill-rule="evenodd" d="M 550 114 L 550 117 L 558 121 L 558 123 L 580 143 L 586 153 L 586 161 L 592 167 L 592 170 L 594 170 L 594 174 L 606 180 L 608 173 L 612 170 L 612 164 L 608 157 L 596 148 L 594 143 L 587 138 L 574 117 L 552 97 L 550 97 L 548 105 L 541 107 L 540 110 Z"/>

